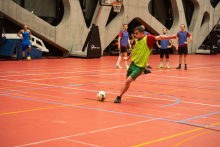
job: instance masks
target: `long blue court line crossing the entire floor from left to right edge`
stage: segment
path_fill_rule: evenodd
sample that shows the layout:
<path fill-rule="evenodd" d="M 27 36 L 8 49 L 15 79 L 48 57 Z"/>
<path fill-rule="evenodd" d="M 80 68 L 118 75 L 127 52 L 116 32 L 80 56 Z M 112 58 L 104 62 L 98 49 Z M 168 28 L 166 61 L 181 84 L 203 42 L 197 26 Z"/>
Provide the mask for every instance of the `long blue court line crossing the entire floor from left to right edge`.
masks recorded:
<path fill-rule="evenodd" d="M 157 118 L 157 117 L 151 117 L 151 116 L 136 115 L 136 114 L 130 114 L 130 113 L 117 112 L 117 111 L 110 111 L 110 110 L 96 109 L 96 108 L 83 107 L 83 106 L 77 106 L 77 105 L 63 104 L 63 103 L 57 103 L 57 102 L 51 102 L 51 101 L 30 99 L 30 98 L 25 98 L 25 97 L 20 97 L 20 96 L 12 96 L 12 95 L 7 95 L 7 94 L 0 94 L 0 95 L 20 98 L 20 99 L 26 99 L 26 100 L 32 100 L 32 101 L 39 101 L 39 102 L 45 102 L 45 103 L 64 105 L 64 106 L 73 106 L 73 107 L 77 107 L 77 108 L 84 108 L 84 109 L 90 109 L 90 110 L 96 110 L 96 111 L 104 111 L 104 112 L 110 112 L 110 113 L 117 113 L 117 114 L 124 114 L 124 115 L 130 115 L 130 116 L 137 116 L 137 117 L 156 119 L 156 120 L 164 120 L 164 121 L 168 121 L 168 122 L 182 123 L 182 124 L 188 124 L 188 125 L 191 124 L 191 125 L 197 125 L 198 127 L 199 126 L 203 126 L 203 127 L 220 128 L 220 127 L 217 127 L 217 126 L 210 126 L 210 125 L 204 125 L 204 124 L 195 124 L 195 123 L 187 123 L 187 122 L 181 122 L 181 121 L 175 121 L 175 120 L 169 120 L 169 119 L 163 119 L 163 118 Z"/>

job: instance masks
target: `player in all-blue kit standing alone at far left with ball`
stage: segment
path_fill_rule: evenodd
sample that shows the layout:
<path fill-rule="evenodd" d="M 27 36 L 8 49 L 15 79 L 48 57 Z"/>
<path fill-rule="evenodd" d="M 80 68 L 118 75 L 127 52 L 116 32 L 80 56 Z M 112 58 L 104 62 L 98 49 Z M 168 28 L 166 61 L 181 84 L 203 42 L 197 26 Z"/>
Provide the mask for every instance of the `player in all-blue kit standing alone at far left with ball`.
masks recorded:
<path fill-rule="evenodd" d="M 27 28 L 27 25 L 24 25 L 24 29 L 18 32 L 18 37 L 22 39 L 22 55 L 23 55 L 23 60 L 25 60 L 25 50 L 28 49 L 27 55 L 30 56 L 31 44 L 32 44 L 31 31 Z"/>

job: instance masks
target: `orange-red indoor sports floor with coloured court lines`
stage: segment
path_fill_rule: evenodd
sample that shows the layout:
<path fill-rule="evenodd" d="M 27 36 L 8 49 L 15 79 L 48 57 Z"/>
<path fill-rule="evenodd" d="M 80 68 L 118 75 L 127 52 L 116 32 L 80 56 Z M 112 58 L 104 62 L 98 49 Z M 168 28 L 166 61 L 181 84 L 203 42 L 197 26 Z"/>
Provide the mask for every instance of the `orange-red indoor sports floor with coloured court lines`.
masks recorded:
<path fill-rule="evenodd" d="M 175 69 L 177 55 L 169 70 L 150 56 L 152 73 L 132 83 L 121 104 L 113 101 L 126 69 L 116 61 L 1 61 L 0 147 L 219 146 L 220 54 L 189 55 L 187 71 Z"/>

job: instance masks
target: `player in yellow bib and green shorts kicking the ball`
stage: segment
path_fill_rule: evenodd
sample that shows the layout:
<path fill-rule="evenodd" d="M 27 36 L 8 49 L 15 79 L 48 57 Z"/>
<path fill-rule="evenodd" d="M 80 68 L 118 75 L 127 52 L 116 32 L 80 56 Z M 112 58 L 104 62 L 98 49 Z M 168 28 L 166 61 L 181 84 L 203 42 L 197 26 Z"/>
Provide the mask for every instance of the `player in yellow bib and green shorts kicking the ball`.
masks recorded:
<path fill-rule="evenodd" d="M 135 81 L 145 70 L 147 66 L 148 58 L 151 54 L 153 44 L 158 40 L 167 40 L 175 39 L 177 35 L 172 36 L 153 36 L 153 35 L 144 35 L 144 29 L 141 26 L 138 26 L 134 29 L 136 37 L 136 45 L 129 57 L 125 57 L 125 60 L 128 60 L 132 56 L 132 62 L 129 69 L 127 70 L 127 79 L 124 86 L 121 89 L 120 94 L 117 96 L 114 103 L 120 103 L 121 97 L 129 89 L 130 84 Z"/>

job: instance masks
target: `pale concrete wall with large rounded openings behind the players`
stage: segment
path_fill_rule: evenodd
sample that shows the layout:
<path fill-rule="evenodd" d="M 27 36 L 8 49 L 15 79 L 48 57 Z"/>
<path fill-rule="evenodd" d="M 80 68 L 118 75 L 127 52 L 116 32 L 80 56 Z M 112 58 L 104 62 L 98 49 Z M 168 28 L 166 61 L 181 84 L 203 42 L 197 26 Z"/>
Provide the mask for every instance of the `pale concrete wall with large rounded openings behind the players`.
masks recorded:
<path fill-rule="evenodd" d="M 100 29 L 102 49 L 105 49 L 122 29 L 122 24 L 130 23 L 137 19 L 154 34 L 160 34 L 165 27 L 156 20 L 148 11 L 150 0 L 124 0 L 124 6 L 120 13 L 106 26 L 111 11 L 110 6 L 103 6 L 97 20 Z M 209 0 L 192 0 L 194 13 L 188 30 L 193 42 L 189 44 L 189 53 L 195 53 L 196 49 L 205 40 L 214 25 L 220 18 L 220 4 L 214 9 Z M 0 13 L 14 23 L 22 26 L 27 24 L 34 34 L 45 41 L 55 45 L 64 51 L 67 56 L 71 51 L 80 51 L 84 45 L 89 29 L 86 26 L 79 0 L 63 0 L 64 17 L 61 23 L 53 27 L 44 22 L 36 15 L 21 8 L 12 0 L 0 0 Z M 182 0 L 171 0 L 174 22 L 169 30 L 170 34 L 176 34 L 180 30 L 180 24 L 186 24 Z M 93 22 L 99 12 L 97 5 Z M 206 12 L 206 13 L 205 13 Z M 206 15 L 204 24 L 201 26 L 203 15 Z"/>

